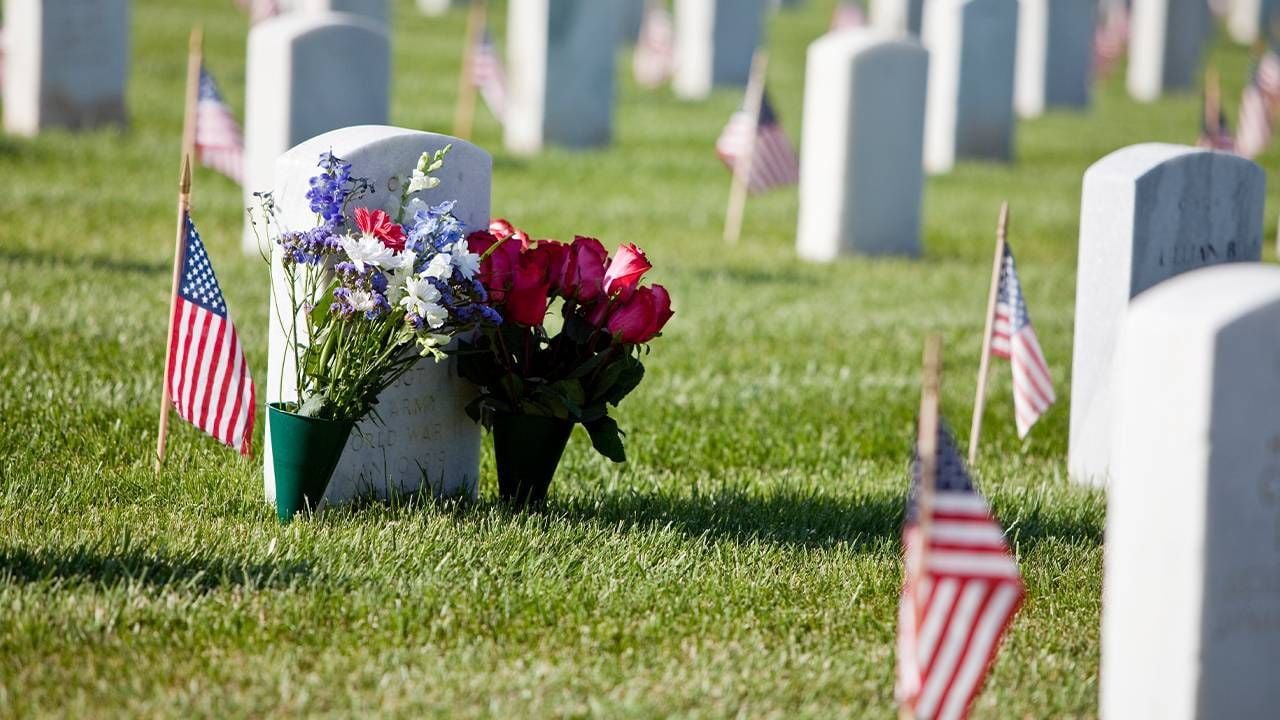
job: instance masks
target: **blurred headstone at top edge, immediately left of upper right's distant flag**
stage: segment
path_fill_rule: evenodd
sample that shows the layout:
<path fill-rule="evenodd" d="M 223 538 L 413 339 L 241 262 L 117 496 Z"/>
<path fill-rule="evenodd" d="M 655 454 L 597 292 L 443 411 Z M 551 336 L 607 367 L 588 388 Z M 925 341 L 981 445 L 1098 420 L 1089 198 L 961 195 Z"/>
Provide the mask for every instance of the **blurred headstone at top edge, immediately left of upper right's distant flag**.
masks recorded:
<path fill-rule="evenodd" d="M 1088 1 L 1019 0 L 1014 90 L 1019 115 L 1088 106 L 1097 19 L 1097 8 Z"/>

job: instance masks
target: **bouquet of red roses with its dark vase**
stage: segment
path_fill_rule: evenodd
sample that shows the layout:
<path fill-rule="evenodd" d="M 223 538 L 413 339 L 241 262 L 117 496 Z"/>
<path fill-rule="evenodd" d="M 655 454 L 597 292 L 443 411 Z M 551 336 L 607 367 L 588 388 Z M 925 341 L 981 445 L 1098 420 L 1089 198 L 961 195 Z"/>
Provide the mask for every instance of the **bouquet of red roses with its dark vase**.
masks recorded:
<path fill-rule="evenodd" d="M 626 460 L 609 406 L 644 378 L 640 355 L 671 319 L 671 297 L 640 284 L 652 265 L 634 245 L 611 259 L 595 238 L 535 241 L 506 220 L 467 243 L 504 319 L 461 343 L 458 373 L 480 388 L 467 411 L 493 432 L 499 495 L 541 502 L 575 424 Z"/>

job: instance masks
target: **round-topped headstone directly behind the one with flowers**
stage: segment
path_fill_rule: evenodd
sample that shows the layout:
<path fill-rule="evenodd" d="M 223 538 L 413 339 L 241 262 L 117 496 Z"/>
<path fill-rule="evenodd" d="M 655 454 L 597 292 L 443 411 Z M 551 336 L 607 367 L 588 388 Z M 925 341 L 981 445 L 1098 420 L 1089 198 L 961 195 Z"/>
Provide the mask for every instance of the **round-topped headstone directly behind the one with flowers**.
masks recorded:
<path fill-rule="evenodd" d="M 347 13 L 289 13 L 248 33 L 244 88 L 244 205 L 270 190 L 275 159 L 330 129 L 388 122 L 387 28 Z M 246 219 L 243 249 L 260 238 Z"/>

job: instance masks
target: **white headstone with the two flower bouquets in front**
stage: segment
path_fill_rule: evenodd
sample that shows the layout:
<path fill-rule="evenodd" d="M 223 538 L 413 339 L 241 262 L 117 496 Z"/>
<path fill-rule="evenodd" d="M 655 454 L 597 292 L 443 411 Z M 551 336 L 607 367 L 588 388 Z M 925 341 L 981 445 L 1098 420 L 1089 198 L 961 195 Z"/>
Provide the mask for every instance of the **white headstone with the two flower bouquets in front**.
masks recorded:
<path fill-rule="evenodd" d="M 352 164 L 352 176 L 372 182 L 374 193 L 365 196 L 360 205 L 394 213 L 401 184 L 407 182 L 419 155 L 449 143 L 453 149 L 439 173 L 440 186 L 419 197 L 428 202 L 457 200 L 453 211 L 458 219 L 467 228 L 485 228 L 489 224 L 493 170 L 489 154 L 456 137 L 387 126 L 337 129 L 282 155 L 275 167 L 274 187 L 280 220 L 285 227 L 308 228 L 315 224 L 315 213 L 305 195 L 307 181 L 319 172 L 316 160 L 321 152 L 332 150 Z M 288 313 L 288 283 L 282 274 L 279 254 L 273 256 L 271 279 L 268 402 L 293 400 L 296 396 L 288 334 L 276 313 L 278 306 Z M 465 410 L 472 397 L 475 389 L 458 377 L 456 360 L 419 361 L 379 396 L 378 413 L 384 424 L 366 420 L 356 425 L 325 500 L 344 502 L 367 495 L 385 498 L 396 492 L 413 492 L 426 482 L 436 495 L 474 497 L 480 430 Z M 264 460 L 264 486 L 268 502 L 273 502 L 275 480 L 270 442 L 266 443 Z"/>

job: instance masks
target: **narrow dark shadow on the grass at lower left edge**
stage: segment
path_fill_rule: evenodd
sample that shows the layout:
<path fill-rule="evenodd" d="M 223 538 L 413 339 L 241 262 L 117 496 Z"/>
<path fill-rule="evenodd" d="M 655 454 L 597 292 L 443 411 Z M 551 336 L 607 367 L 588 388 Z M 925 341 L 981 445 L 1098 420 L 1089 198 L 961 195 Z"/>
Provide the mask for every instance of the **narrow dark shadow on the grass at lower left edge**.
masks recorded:
<path fill-rule="evenodd" d="M 146 584 L 206 593 L 220 588 L 280 588 L 311 574 L 305 562 L 269 564 L 192 555 L 172 557 L 141 548 L 0 550 L 0 582 L 86 583 L 101 588 Z"/>

